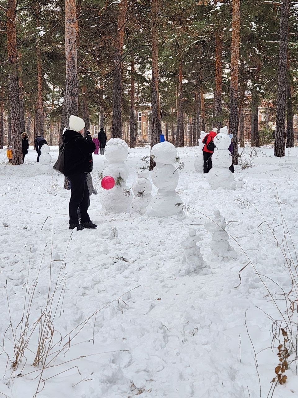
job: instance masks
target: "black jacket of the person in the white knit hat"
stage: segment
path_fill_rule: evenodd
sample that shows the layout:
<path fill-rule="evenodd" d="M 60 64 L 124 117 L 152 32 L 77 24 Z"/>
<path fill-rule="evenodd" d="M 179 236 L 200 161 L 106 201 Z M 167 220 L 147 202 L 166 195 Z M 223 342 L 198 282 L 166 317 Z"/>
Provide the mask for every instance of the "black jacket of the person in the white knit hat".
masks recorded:
<path fill-rule="evenodd" d="M 74 130 L 66 129 L 63 134 L 64 146 L 64 175 L 90 173 L 93 168 L 92 152 L 96 146 L 91 135 L 82 137 Z"/>

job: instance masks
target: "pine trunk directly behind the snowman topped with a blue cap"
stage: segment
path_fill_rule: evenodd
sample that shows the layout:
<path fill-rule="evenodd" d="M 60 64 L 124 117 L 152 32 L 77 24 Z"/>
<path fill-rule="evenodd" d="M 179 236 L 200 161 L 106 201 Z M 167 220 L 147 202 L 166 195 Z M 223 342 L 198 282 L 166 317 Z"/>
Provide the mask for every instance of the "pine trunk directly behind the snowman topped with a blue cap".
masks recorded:
<path fill-rule="evenodd" d="M 151 98 L 151 149 L 159 142 L 159 99 L 158 99 L 158 26 L 157 26 L 157 14 L 159 12 L 158 0 L 152 0 L 151 3 L 151 18 L 152 18 L 152 98 Z M 153 170 L 155 162 L 150 159 L 149 170 Z"/>

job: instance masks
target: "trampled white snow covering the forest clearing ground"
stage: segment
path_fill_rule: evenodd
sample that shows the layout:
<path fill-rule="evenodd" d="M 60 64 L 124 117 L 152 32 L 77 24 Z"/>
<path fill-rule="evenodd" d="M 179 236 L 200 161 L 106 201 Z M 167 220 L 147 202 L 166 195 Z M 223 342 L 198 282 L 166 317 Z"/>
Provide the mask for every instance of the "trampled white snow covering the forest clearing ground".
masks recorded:
<path fill-rule="evenodd" d="M 54 162 L 57 147 L 51 151 Z M 185 167 L 177 191 L 197 211 L 190 209 L 185 219 L 106 215 L 98 178 L 105 157 L 95 155 L 93 183 L 99 194 L 91 196 L 89 215 L 99 228 L 70 231 L 70 192 L 63 189 L 63 177 L 41 174 L 33 148 L 22 166 L 8 165 L 6 151 L 0 151 L 0 395 L 267 397 L 279 364 L 279 342 L 273 339 L 279 327 L 272 325 L 288 319 L 287 244 L 292 272 L 298 263 L 288 243 L 292 238 L 298 244 L 298 148 L 287 149 L 284 158 L 274 158 L 272 148 L 246 148 L 240 162 L 248 167 L 235 167 L 236 191 L 210 191 L 206 176 L 194 171 L 198 149 L 178 152 Z M 148 154 L 147 148 L 130 150 L 128 186 Z M 221 211 L 239 244 L 230 238 L 236 261 L 220 262 L 211 254 L 211 234 L 203 224 L 214 209 Z M 180 242 L 190 225 L 201 235 L 208 268 L 184 275 Z M 253 266 L 240 273 L 242 283 L 235 288 L 249 261 Z M 24 358 L 12 371 L 28 307 Z M 293 322 L 297 304 L 295 310 Z M 45 344 L 51 347 L 40 354 L 43 363 L 33 367 L 41 328 L 36 322 L 49 311 L 51 332 L 46 332 Z M 291 361 L 295 355 L 289 352 Z M 287 382 L 276 386 L 274 397 L 298 394 L 295 362 L 285 374 Z"/>

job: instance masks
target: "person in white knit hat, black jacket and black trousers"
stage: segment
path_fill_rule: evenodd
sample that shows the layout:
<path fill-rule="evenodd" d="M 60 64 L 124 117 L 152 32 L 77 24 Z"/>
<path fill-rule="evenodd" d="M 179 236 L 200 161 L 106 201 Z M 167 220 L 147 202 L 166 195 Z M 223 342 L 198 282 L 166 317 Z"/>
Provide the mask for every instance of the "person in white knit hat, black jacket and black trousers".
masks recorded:
<path fill-rule="evenodd" d="M 92 141 L 90 131 L 87 130 L 83 137 L 85 122 L 80 117 L 71 115 L 69 129 L 64 131 L 64 175 L 70 180 L 72 195 L 69 202 L 69 229 L 82 230 L 84 228 L 96 228 L 88 215 L 89 189 L 87 175 L 93 168 L 92 152 L 96 146 Z M 77 215 L 77 209 L 81 213 L 81 224 Z"/>

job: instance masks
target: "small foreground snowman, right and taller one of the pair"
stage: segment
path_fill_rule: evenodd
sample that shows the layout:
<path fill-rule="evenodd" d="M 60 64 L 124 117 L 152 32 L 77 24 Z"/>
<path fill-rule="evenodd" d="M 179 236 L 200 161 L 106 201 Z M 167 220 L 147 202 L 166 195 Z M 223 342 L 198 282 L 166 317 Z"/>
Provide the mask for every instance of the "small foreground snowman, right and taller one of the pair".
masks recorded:
<path fill-rule="evenodd" d="M 231 248 L 229 236 L 225 230 L 226 221 L 219 210 L 213 213 L 213 221 L 205 222 L 205 229 L 212 232 L 212 240 L 210 243 L 211 251 L 220 259 L 235 258 L 236 252 Z"/>

